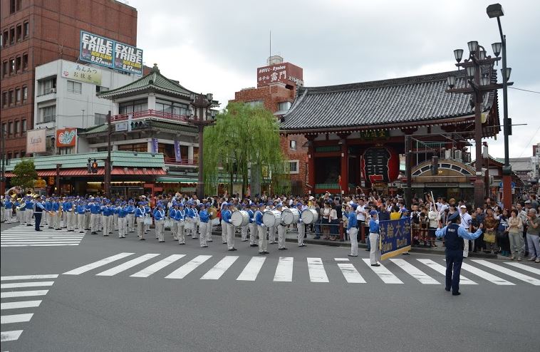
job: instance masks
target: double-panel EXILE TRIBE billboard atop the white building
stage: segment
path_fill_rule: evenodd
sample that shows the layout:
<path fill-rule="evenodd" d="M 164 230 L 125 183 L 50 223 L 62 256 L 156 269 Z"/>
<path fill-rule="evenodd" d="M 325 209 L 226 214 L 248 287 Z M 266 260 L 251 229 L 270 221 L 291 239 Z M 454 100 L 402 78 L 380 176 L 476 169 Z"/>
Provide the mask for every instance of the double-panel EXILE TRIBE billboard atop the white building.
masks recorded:
<path fill-rule="evenodd" d="M 142 75 L 142 49 L 81 31 L 80 60 Z"/>

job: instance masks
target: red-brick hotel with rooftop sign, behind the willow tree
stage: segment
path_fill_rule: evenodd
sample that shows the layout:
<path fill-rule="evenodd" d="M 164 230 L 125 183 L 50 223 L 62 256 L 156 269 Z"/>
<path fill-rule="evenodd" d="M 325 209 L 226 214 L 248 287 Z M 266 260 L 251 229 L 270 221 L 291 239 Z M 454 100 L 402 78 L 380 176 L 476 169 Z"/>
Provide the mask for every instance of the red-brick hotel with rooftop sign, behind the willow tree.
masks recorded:
<path fill-rule="evenodd" d="M 257 87 L 244 88 L 234 93 L 234 100 L 252 105 L 263 105 L 276 118 L 281 118 L 291 107 L 296 89 L 303 85 L 303 70 L 291 63 L 284 63 L 281 56 L 271 56 L 268 66 L 257 68 Z M 303 135 L 281 136 L 281 150 L 289 159 L 291 192 L 301 195 L 306 187 L 307 147 Z"/>

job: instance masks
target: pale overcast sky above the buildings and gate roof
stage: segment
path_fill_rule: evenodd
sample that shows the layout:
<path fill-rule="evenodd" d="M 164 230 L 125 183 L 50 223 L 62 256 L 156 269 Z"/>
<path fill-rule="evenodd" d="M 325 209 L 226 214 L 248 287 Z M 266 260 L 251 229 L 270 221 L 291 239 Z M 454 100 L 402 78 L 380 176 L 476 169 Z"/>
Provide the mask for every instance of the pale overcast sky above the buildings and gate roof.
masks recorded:
<path fill-rule="evenodd" d="M 306 86 L 452 71 L 455 48 L 500 41 L 492 1 L 129 0 L 138 11 L 137 46 L 147 66 L 222 103 L 256 86 L 271 53 L 303 68 Z M 514 87 L 540 91 L 540 1 L 502 0 Z M 467 50 L 465 51 L 468 52 Z M 501 68 L 499 65 L 498 68 Z M 499 71 L 500 77 L 500 71 Z M 502 120 L 502 91 L 499 92 Z M 509 89 L 510 157 L 540 143 L 540 94 Z M 502 133 L 489 154 L 504 157 Z"/>

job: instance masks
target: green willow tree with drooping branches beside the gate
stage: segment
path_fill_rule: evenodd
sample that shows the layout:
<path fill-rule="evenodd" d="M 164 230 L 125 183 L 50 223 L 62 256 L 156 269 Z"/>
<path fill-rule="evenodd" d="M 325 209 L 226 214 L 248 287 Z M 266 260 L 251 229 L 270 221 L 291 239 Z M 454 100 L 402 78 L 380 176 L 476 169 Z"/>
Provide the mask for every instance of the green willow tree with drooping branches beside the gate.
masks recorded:
<path fill-rule="evenodd" d="M 265 170 L 271 176 L 273 191 L 290 188 L 286 157 L 281 150 L 276 117 L 259 106 L 229 103 L 216 117 L 215 125 L 204 128 L 204 182 L 212 193 L 220 176 L 227 175 L 229 190 L 242 181 L 246 194 L 249 175 Z"/>

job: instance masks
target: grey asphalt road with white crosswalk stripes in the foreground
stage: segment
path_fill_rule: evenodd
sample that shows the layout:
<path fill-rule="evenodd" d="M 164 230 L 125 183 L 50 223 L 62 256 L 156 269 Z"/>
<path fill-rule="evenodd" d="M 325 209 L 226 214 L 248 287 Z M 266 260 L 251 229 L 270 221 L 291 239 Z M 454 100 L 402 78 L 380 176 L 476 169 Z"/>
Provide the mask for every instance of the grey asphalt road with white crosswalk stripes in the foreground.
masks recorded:
<path fill-rule="evenodd" d="M 262 264 L 252 259 L 259 256 L 247 242 L 237 239 L 239 250 L 228 252 L 221 237 L 206 249 L 199 248 L 198 239 L 179 246 L 170 234 L 158 243 L 153 233 L 138 241 L 135 234 L 118 239 L 89 232 L 72 246 L 4 247 L 36 235 L 31 227 L 21 228 L 1 224 L 2 339 L 12 336 L 6 331 L 22 331 L 14 341 L 3 341 L 1 351 L 538 348 L 540 266 L 535 264 L 467 259 L 476 274 L 462 274 L 474 284 L 462 284 L 462 295 L 451 296 L 442 285 L 444 276 L 430 264 L 444 265 L 439 255 L 397 257 L 405 264 L 386 260 L 383 266 L 390 272 L 379 276 L 363 261 L 368 257 L 363 249 L 360 257 L 347 261 L 348 248 L 298 248 L 289 242 L 287 251 L 269 245 L 271 253 Z M 54 234 L 63 235 L 78 234 Z M 78 269 L 110 257 L 119 259 Z M 338 264 L 345 264 L 343 271 Z M 7 277 L 28 275 L 52 276 Z M 175 278 L 166 278 L 170 275 Z M 48 286 L 38 286 L 43 283 Z M 39 295 L 10 297 L 20 291 Z M 19 301 L 41 302 L 16 308 Z M 33 314 L 29 320 L 28 314 Z"/>

